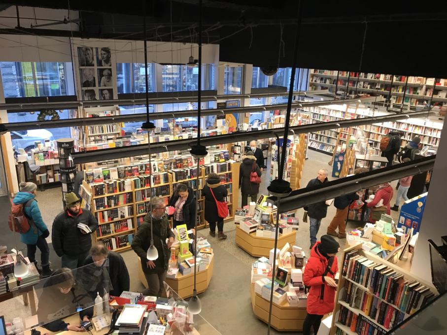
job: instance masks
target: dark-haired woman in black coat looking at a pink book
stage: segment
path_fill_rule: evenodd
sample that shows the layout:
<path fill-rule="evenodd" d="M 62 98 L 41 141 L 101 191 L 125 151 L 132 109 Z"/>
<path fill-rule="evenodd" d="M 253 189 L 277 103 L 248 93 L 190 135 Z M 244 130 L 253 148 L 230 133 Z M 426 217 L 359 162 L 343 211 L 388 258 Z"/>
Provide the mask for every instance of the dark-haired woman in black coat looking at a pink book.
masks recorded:
<path fill-rule="evenodd" d="M 194 229 L 196 225 L 196 195 L 185 184 L 178 184 L 175 192 L 168 202 L 168 206 L 174 207 L 172 225 L 185 224 L 188 229 Z"/>

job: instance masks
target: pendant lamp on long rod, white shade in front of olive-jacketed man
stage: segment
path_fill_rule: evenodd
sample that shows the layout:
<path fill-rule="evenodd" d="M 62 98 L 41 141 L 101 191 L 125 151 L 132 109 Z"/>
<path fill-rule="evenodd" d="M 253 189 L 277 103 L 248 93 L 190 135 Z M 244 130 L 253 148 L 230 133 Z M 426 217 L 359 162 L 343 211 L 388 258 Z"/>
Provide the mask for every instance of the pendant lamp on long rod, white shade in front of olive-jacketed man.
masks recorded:
<path fill-rule="evenodd" d="M 146 122 L 141 125 L 141 129 L 147 132 L 147 149 L 149 153 L 149 195 L 150 195 L 150 246 L 147 249 L 146 258 L 149 261 L 155 261 L 158 258 L 158 250 L 154 246 L 154 237 L 152 234 L 152 161 L 151 161 L 151 152 L 150 152 L 150 136 L 149 133 L 155 129 L 155 125 L 153 122 L 149 121 L 149 92 L 147 91 L 148 86 L 148 77 L 147 77 L 147 41 L 146 41 L 146 1 L 143 0 L 143 35 L 144 35 L 144 74 L 146 81 Z"/>

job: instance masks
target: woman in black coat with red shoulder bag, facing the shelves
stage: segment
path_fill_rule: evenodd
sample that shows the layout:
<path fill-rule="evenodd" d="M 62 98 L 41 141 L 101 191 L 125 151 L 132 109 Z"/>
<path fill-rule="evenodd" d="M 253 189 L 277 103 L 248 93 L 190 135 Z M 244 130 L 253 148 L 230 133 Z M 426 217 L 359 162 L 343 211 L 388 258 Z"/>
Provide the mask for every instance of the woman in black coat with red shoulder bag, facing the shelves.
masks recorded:
<path fill-rule="evenodd" d="M 211 193 L 212 192 L 212 193 Z M 216 236 L 216 223 L 219 239 L 227 238 L 223 233 L 223 220 L 217 212 L 217 201 L 224 201 L 228 196 L 227 188 L 220 183 L 220 177 L 216 173 L 210 173 L 206 179 L 206 185 L 202 190 L 202 195 L 205 197 L 205 220 L 209 224 L 209 234 L 212 237 Z M 213 196 L 214 195 L 214 196 Z"/>

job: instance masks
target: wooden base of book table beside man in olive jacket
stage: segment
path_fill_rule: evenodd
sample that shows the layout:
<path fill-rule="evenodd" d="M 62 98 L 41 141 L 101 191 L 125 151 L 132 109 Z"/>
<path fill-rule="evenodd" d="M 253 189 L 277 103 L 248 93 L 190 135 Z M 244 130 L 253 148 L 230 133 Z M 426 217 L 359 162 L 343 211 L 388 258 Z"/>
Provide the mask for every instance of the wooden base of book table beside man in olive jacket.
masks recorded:
<path fill-rule="evenodd" d="M 203 271 L 197 272 L 196 277 L 196 288 L 197 293 L 203 293 L 208 288 L 209 282 L 211 281 L 212 271 L 214 266 L 214 257 L 211 259 L 211 262 L 206 266 L 206 269 Z M 147 288 L 146 277 L 144 276 L 143 270 L 141 268 L 141 262 L 138 258 L 138 278 L 145 288 Z M 177 272 L 175 278 L 166 278 L 166 283 L 171 286 L 171 288 L 182 298 L 186 299 L 192 297 L 193 289 L 194 289 L 194 271 L 191 269 L 191 272 L 185 275 L 182 275 L 180 272 Z"/>

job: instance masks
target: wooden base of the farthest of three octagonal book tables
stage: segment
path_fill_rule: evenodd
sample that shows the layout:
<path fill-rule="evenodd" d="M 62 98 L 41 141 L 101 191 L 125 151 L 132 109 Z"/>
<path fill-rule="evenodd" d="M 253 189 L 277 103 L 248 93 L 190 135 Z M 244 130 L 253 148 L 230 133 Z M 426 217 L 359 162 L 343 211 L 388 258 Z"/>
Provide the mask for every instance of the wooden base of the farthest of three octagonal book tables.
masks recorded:
<path fill-rule="evenodd" d="M 295 244 L 296 231 L 288 234 L 278 234 L 277 248 L 281 249 L 287 242 Z M 239 226 L 236 227 L 236 244 L 251 256 L 269 257 L 270 250 L 275 247 L 275 239 L 269 237 L 259 237 L 255 233 L 247 234 Z"/>

